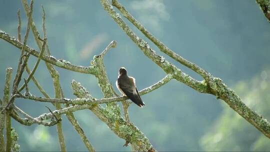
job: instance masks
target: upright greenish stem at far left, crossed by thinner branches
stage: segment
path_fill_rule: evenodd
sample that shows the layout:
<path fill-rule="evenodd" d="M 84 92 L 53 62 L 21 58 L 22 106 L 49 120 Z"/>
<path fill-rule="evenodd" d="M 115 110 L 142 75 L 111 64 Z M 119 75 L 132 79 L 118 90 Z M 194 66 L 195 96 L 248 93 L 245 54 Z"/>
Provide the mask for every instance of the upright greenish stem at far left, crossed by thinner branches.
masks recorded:
<path fill-rule="evenodd" d="M 9 101 L 9 90 L 10 90 L 10 80 L 11 80 L 12 68 L 6 68 L 5 70 L 5 83 L 4 83 L 4 96 L 3 96 L 3 104 L 7 105 Z M 1 123 L 4 123 L 1 121 Z M 3 125 L 3 124 L 1 124 Z M 2 131 L 2 130 L 1 130 Z M 8 114 L 5 114 L 5 134 L 6 134 L 6 144 L 4 151 L 11 150 L 11 119 Z"/>

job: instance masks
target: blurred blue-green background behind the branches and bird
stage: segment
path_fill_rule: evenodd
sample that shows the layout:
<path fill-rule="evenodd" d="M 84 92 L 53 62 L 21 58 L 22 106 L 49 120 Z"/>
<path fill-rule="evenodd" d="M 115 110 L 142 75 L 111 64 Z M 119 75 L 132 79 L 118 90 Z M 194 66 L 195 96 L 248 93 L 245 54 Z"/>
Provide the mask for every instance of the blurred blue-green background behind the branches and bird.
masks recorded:
<path fill-rule="evenodd" d="M 195 62 L 233 88 L 255 111 L 270 118 L 270 24 L 255 0 L 121 0 L 129 12 L 169 48 Z M 88 66 L 111 41 L 117 47 L 104 58 L 109 80 L 114 84 L 118 68 L 125 66 L 136 78 L 138 89 L 145 88 L 165 73 L 149 60 L 103 10 L 98 0 L 35 0 L 33 18 L 41 32 L 41 4 L 46 11 L 46 28 L 51 54 L 73 64 Z M 26 17 L 19 0 L 0 0 L 0 29 L 16 36 L 17 9 L 22 15 L 22 35 Z M 125 19 L 126 20 L 126 19 Z M 129 22 L 134 31 L 142 36 Z M 143 36 L 142 36 L 143 37 Z M 145 38 L 145 37 L 143 37 Z M 145 38 L 146 39 L 146 38 Z M 146 39 L 149 42 L 149 40 Z M 191 70 L 160 52 L 187 74 L 201 80 Z M 37 48 L 30 34 L 28 45 Z M 0 40 L 0 96 L 3 95 L 6 67 L 13 67 L 19 50 Z M 30 57 L 33 66 L 35 57 Z M 102 93 L 92 75 L 56 67 L 64 94 L 74 98 L 72 79 L 85 86 L 96 98 Z M 26 77 L 26 75 L 23 75 Z M 51 77 L 42 61 L 35 77 L 53 96 Z M 29 83 L 30 91 L 41 94 Z M 114 86 L 116 89 L 116 87 Z M 129 107 L 131 121 L 159 151 L 261 151 L 270 150 L 270 140 L 234 112 L 222 100 L 201 94 L 172 80 L 142 96 L 144 108 Z M 33 116 L 48 112 L 49 103 L 17 99 L 16 105 Z M 124 140 L 89 110 L 74 112 L 97 151 L 127 151 Z M 76 131 L 63 116 L 67 150 L 86 150 Z M 22 151 L 59 150 L 55 126 L 24 126 L 12 120 Z"/>

